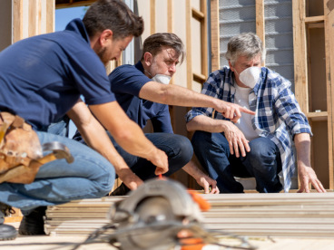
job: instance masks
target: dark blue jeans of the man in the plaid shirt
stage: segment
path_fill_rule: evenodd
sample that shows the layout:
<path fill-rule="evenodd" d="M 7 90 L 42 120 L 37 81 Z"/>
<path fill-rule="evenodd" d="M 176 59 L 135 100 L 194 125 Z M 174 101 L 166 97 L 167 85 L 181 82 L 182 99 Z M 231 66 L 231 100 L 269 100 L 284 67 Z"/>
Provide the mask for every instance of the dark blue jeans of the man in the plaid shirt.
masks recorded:
<path fill-rule="evenodd" d="M 242 193 L 241 183 L 234 177 L 255 178 L 260 193 L 282 190 L 278 173 L 281 171 L 280 151 L 270 139 L 257 138 L 250 142 L 246 157 L 231 155 L 228 140 L 223 133 L 196 131 L 192 146 L 197 159 L 210 177 L 217 181 L 222 193 Z"/>

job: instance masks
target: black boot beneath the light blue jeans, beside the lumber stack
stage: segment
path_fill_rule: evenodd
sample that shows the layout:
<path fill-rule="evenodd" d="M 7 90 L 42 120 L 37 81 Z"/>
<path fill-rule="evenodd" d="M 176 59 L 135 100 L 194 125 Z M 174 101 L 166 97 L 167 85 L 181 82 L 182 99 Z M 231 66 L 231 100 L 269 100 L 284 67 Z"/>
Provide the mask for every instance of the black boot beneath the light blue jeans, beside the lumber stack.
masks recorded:
<path fill-rule="evenodd" d="M 46 207 L 36 207 L 27 216 L 24 216 L 18 233 L 21 236 L 44 236 L 44 216 Z"/>

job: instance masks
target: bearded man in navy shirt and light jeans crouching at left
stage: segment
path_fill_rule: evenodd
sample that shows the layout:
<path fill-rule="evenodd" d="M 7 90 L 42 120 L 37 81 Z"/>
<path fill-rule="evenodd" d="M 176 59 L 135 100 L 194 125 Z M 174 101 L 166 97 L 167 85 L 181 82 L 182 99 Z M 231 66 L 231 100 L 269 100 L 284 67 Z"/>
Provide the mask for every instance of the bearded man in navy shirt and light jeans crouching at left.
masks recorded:
<path fill-rule="evenodd" d="M 114 168 L 128 166 L 104 128 L 123 149 L 152 162 L 156 175 L 168 171 L 166 154 L 119 106 L 104 68 L 142 30 L 142 18 L 122 1 L 99 0 L 83 20 L 74 19 L 63 32 L 27 38 L 0 53 L 0 111 L 24 118 L 41 144 L 59 141 L 74 156 L 72 164 L 64 159 L 44 164 L 31 184 L 0 183 L 0 240 L 17 235 L 13 226 L 4 224 L 10 207 L 24 214 L 21 235 L 41 235 L 46 206 L 110 192 Z M 88 107 L 79 101 L 81 95 Z M 66 113 L 92 149 L 45 132 Z"/>

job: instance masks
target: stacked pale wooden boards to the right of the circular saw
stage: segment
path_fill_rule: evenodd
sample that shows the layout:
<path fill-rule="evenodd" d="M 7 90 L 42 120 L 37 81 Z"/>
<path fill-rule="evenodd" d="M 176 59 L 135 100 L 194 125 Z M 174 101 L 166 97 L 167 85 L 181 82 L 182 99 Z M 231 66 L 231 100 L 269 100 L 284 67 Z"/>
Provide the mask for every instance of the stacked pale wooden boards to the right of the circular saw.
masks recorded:
<path fill-rule="evenodd" d="M 334 236 L 334 193 L 206 195 L 207 229 L 241 236 Z"/>

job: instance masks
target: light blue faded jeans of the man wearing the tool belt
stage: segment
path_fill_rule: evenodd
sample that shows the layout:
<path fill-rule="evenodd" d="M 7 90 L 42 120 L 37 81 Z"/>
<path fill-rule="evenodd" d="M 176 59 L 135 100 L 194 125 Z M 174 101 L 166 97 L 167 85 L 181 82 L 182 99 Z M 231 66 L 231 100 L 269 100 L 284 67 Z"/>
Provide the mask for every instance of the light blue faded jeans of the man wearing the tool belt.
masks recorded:
<path fill-rule="evenodd" d="M 65 159 L 56 159 L 44 164 L 31 184 L 1 183 L 0 202 L 21 208 L 26 214 L 34 207 L 103 197 L 113 188 L 114 168 L 102 155 L 73 139 L 45 132 L 37 132 L 37 135 L 41 144 L 64 143 L 74 156 L 74 162 L 68 164 Z"/>

